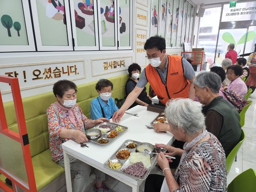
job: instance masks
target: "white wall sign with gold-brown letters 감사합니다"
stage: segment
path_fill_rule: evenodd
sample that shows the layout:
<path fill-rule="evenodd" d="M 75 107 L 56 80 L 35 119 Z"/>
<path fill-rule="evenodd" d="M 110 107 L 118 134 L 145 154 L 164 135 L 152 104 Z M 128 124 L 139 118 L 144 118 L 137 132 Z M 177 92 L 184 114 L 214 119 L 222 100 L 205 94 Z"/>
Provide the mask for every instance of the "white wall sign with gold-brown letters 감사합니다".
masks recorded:
<path fill-rule="evenodd" d="M 132 56 L 91 59 L 91 73 L 94 77 L 124 71 L 128 69 L 132 61 Z"/>

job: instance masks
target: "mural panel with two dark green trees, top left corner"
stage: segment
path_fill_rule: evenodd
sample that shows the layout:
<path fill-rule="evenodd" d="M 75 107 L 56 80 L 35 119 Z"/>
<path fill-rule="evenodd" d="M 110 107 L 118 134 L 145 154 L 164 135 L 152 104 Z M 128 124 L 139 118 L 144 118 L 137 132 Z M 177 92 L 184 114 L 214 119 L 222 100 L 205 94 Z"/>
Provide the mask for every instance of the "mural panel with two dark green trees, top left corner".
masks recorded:
<path fill-rule="evenodd" d="M 0 20 L 0 45 L 28 45 L 21 0 L 1 1 Z"/>

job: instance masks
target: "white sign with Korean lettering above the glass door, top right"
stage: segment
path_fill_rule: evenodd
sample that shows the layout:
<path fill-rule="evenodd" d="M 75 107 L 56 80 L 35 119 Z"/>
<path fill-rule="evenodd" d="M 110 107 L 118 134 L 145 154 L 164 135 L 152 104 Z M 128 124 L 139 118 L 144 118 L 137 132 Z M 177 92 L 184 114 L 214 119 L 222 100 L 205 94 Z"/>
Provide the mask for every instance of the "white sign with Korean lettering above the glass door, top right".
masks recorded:
<path fill-rule="evenodd" d="M 244 3 L 239 1 L 236 4 L 232 2 L 232 7 L 230 7 L 231 2 L 223 6 L 221 22 L 256 20 L 256 1 Z"/>

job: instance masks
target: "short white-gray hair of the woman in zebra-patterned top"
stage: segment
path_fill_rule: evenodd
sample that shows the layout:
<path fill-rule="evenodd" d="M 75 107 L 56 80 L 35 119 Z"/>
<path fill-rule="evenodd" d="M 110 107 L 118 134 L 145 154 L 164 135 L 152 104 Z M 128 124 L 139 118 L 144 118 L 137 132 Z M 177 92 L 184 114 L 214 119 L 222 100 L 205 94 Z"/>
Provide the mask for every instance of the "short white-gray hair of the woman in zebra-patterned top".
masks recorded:
<path fill-rule="evenodd" d="M 174 128 L 182 128 L 192 135 L 205 130 L 205 119 L 201 108 L 191 99 L 175 99 L 166 104 L 165 116 Z"/>

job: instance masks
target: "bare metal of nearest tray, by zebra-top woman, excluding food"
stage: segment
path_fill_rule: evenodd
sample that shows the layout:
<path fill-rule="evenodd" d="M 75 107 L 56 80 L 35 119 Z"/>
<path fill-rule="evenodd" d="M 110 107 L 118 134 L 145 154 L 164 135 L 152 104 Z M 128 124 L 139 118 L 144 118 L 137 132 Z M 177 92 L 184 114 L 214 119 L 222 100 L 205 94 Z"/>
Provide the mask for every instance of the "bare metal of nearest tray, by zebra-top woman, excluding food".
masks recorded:
<path fill-rule="evenodd" d="M 125 142 L 123 142 L 123 144 L 115 151 L 115 153 L 109 158 L 109 160 L 117 159 L 116 154 L 117 154 L 117 152 L 118 152 L 120 149 L 128 149 L 130 152 L 137 152 L 137 151 L 136 151 L 136 148 L 134 148 L 134 149 L 126 148 L 126 144 L 127 144 L 127 143 L 132 143 L 133 141 L 134 141 L 134 140 L 132 140 L 132 139 L 128 139 L 128 140 L 126 140 Z M 139 142 L 139 141 L 134 141 L 134 142 L 136 143 L 136 145 L 139 144 L 139 143 L 142 143 L 142 142 Z M 154 149 L 153 152 L 159 153 L 160 150 L 161 150 L 161 149 Z M 139 153 L 139 152 L 138 152 L 138 153 Z M 109 164 L 108 164 L 109 160 L 107 160 L 107 161 L 104 163 L 104 167 L 107 168 L 107 169 L 110 169 L 110 170 L 112 170 L 112 171 L 117 171 L 117 172 L 119 172 L 119 173 L 123 173 L 123 174 L 125 174 L 125 175 L 127 175 L 127 176 L 130 176 L 130 177 L 136 179 L 136 180 L 144 180 L 144 179 L 146 179 L 146 178 L 148 177 L 149 172 L 150 172 L 150 171 L 152 170 L 152 168 L 154 167 L 155 161 L 157 160 L 157 156 L 158 156 L 158 155 L 156 155 L 156 154 L 152 154 L 152 155 L 150 156 L 150 164 L 151 164 L 151 165 L 150 165 L 149 169 L 147 169 L 147 171 L 144 173 L 144 176 L 142 176 L 142 177 L 132 176 L 132 175 L 130 175 L 130 174 L 124 172 L 124 169 L 125 169 L 126 167 L 128 167 L 129 165 L 131 165 L 131 162 L 130 162 L 128 159 L 124 159 L 124 160 L 117 159 L 117 160 L 119 160 L 119 163 L 122 164 L 122 166 L 121 166 L 120 168 L 118 168 L 118 169 L 112 169 L 112 168 L 110 168 L 110 166 L 109 166 Z"/>

